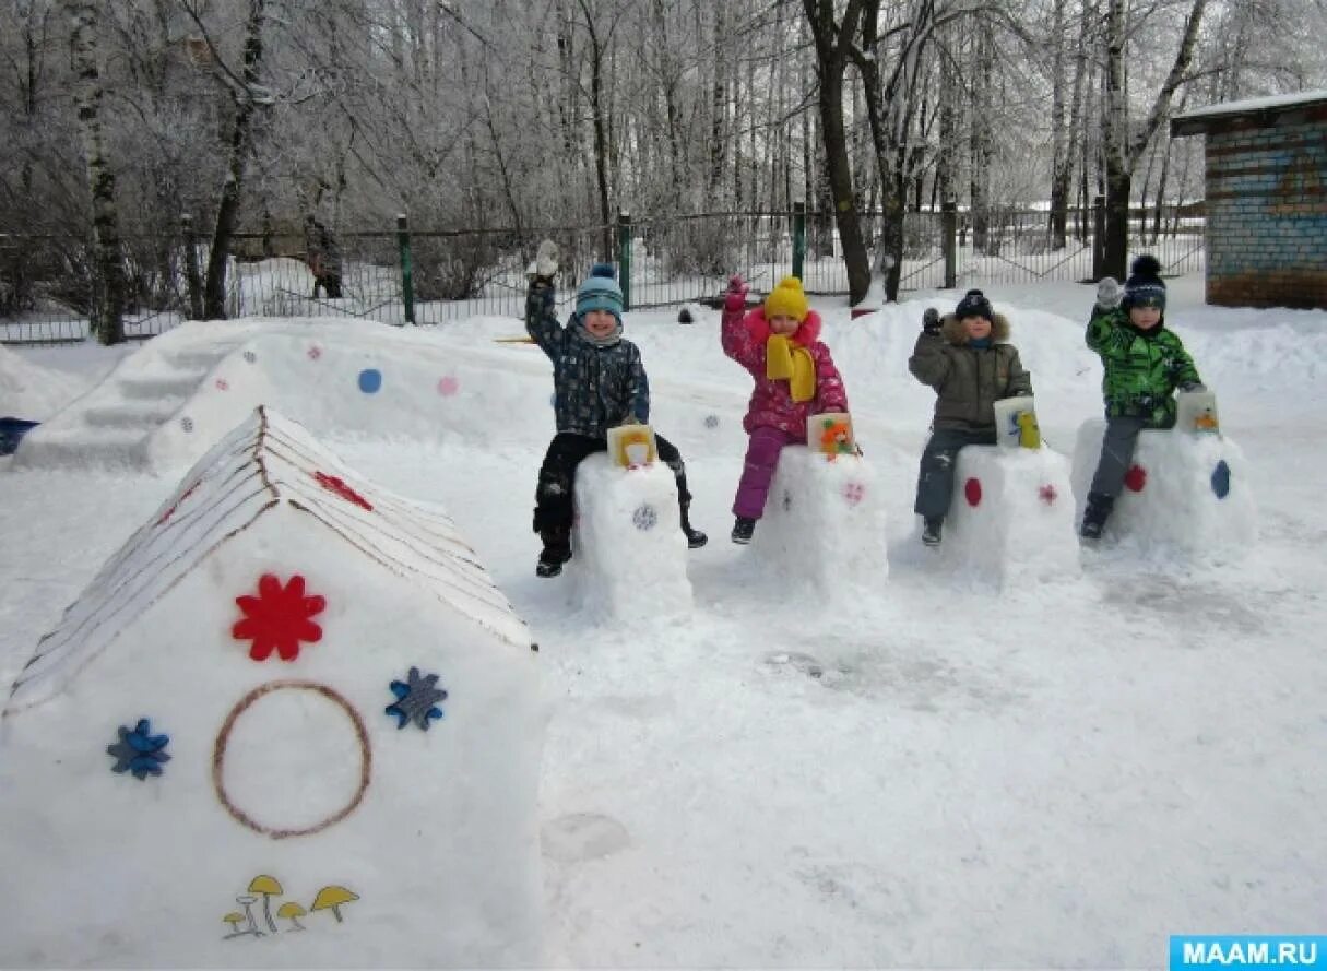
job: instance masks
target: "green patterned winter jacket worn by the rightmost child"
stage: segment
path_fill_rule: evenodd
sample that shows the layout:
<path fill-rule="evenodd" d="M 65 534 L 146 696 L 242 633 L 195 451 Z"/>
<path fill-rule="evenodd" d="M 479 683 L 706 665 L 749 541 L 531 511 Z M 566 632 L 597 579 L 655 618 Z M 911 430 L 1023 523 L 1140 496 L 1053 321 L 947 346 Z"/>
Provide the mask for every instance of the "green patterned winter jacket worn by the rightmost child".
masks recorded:
<path fill-rule="evenodd" d="M 1111 418 L 1141 418 L 1149 428 L 1169 428 L 1176 389 L 1202 383 L 1184 342 L 1164 320 L 1140 330 L 1129 322 L 1128 310 L 1095 306 L 1087 346 L 1101 356 L 1101 394 Z"/>

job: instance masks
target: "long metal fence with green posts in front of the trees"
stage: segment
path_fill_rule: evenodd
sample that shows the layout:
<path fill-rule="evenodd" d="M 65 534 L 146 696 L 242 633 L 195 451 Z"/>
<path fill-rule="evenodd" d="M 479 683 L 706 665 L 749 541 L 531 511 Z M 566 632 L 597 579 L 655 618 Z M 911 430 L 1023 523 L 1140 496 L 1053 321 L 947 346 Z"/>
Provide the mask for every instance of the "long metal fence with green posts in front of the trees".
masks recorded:
<path fill-rule="evenodd" d="M 1048 214 L 990 211 L 982 223 L 950 210 L 909 212 L 904 226 L 900 289 L 1091 280 L 1100 211 L 1070 214 L 1066 245 L 1055 247 Z M 864 214 L 868 239 L 882 228 Z M 1168 273 L 1204 268 L 1204 219 L 1169 210 L 1137 214 L 1131 249 L 1157 253 Z M 742 272 L 755 289 L 774 287 L 800 269 L 809 293 L 845 294 L 848 277 L 829 214 L 710 212 L 614 226 L 523 229 L 336 231 L 341 255 L 340 296 L 318 285 L 299 232 L 240 233 L 227 272 L 228 317 L 349 317 L 387 324 L 437 325 L 474 316 L 520 317 L 525 267 L 539 240 L 563 253 L 561 300 L 596 261 L 617 263 L 633 309 L 714 298 Z M 206 244 L 187 227 L 176 239 L 123 241 L 129 277 L 125 332 L 162 333 L 196 316 L 187 255 L 206 265 Z M 89 336 L 97 300 L 88 240 L 0 235 L 0 342 L 66 342 Z"/>

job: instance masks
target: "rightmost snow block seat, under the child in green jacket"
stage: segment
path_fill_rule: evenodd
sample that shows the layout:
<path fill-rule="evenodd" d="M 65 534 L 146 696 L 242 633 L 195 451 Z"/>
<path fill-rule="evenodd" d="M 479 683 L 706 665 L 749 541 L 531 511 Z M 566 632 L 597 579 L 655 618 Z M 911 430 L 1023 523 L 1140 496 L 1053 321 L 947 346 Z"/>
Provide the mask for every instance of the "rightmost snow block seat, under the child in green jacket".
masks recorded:
<path fill-rule="evenodd" d="M 1082 520 L 1101 456 L 1105 419 L 1079 427 L 1074 495 Z M 1143 431 L 1103 539 L 1129 537 L 1143 548 L 1188 556 L 1223 556 L 1250 547 L 1258 533 L 1243 452 L 1226 435 Z"/>

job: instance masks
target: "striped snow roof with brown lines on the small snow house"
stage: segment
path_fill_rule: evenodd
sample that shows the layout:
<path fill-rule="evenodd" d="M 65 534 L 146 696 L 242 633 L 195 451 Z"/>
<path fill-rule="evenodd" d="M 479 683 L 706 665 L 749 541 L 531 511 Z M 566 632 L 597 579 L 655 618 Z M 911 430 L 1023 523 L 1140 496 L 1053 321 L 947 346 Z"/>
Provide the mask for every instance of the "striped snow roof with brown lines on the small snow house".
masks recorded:
<path fill-rule="evenodd" d="M 138 614 L 261 516 L 309 516 L 346 544 L 503 641 L 529 629 L 451 519 L 350 471 L 301 426 L 269 409 L 218 442 L 113 556 L 15 679 L 5 714 L 54 696 Z M 297 529 L 299 520 L 285 527 Z"/>

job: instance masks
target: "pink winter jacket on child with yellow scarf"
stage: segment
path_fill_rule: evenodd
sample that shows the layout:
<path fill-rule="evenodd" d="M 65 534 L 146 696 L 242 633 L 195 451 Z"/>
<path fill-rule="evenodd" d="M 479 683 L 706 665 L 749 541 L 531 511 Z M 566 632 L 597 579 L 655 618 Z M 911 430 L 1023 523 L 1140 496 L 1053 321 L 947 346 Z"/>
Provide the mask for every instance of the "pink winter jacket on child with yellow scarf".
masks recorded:
<path fill-rule="evenodd" d="M 755 390 L 747 406 L 742 427 L 750 435 L 756 428 L 779 428 L 798 442 L 807 440 L 807 419 L 821 411 L 847 411 L 848 393 L 843 387 L 839 369 L 833 366 L 829 348 L 820 342 L 820 317 L 815 310 L 807 314 L 792 333 L 792 342 L 811 352 L 816 365 L 816 395 L 811 401 L 794 402 L 788 382 L 764 375 L 764 344 L 770 340 L 770 325 L 764 308 L 750 313 L 743 309 L 723 310 L 723 353 L 751 371 Z"/>

